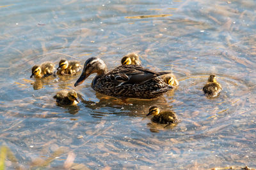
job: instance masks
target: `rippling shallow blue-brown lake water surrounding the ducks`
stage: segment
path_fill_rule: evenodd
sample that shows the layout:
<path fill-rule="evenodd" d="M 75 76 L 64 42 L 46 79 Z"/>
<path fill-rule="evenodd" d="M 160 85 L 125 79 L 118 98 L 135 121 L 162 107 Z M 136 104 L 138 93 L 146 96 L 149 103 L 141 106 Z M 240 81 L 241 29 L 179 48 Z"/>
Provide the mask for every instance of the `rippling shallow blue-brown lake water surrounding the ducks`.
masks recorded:
<path fill-rule="evenodd" d="M 256 3 L 244 1 L 0 2 L 0 146 L 6 169 L 209 169 L 256 167 Z M 109 69 L 140 55 L 180 85 L 154 100 L 96 94 L 93 76 L 29 78 L 45 61 L 100 57 Z M 216 74 L 223 90 L 207 99 Z M 60 107 L 58 90 L 83 102 Z M 157 125 L 148 108 L 175 111 L 180 123 Z"/>

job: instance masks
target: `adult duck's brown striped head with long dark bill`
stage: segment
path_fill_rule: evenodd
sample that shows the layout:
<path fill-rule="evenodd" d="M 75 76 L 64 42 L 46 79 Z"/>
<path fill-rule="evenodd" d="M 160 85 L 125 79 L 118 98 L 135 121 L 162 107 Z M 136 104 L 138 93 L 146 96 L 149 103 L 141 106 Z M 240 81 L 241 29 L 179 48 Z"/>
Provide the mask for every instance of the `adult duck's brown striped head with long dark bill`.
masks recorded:
<path fill-rule="evenodd" d="M 86 60 L 84 63 L 84 68 L 82 71 L 81 76 L 75 83 L 75 87 L 77 85 L 81 85 L 83 81 L 90 76 L 90 74 L 97 73 L 98 75 L 102 75 L 107 73 L 108 69 L 105 62 L 102 59 L 97 57 L 91 57 L 90 59 Z"/>

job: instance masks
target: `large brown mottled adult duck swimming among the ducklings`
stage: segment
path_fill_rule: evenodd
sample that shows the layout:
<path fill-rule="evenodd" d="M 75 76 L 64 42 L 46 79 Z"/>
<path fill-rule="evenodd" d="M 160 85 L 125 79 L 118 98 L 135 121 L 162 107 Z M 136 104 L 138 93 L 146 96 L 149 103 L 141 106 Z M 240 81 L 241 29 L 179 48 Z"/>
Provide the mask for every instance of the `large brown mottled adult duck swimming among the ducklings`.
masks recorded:
<path fill-rule="evenodd" d="M 172 85 L 158 78 L 170 72 L 156 73 L 136 65 L 119 66 L 108 72 L 104 61 L 97 57 L 86 60 L 75 87 L 92 73 L 97 73 L 92 81 L 92 88 L 96 92 L 113 97 L 152 99 L 173 89 Z"/>

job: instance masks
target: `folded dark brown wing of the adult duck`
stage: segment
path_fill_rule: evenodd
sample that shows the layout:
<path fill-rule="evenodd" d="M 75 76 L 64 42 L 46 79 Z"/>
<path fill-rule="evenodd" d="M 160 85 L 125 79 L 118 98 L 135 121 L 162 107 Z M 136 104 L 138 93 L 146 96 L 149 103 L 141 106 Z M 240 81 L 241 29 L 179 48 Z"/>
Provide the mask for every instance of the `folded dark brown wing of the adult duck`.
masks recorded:
<path fill-rule="evenodd" d="M 170 72 L 163 71 L 157 73 L 141 66 L 124 65 L 116 67 L 113 71 L 107 73 L 107 76 L 114 78 L 115 81 L 122 82 L 122 85 L 126 85 L 145 83 L 146 81 L 163 74 L 170 74 Z"/>

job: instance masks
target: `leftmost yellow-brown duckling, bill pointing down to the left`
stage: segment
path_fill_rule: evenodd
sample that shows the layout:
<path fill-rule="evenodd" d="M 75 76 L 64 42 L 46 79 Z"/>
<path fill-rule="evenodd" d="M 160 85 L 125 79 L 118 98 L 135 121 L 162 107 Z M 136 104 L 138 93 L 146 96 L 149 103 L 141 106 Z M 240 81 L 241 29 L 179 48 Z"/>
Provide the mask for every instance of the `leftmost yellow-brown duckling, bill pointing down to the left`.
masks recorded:
<path fill-rule="evenodd" d="M 30 78 L 32 78 L 33 76 L 35 76 L 35 78 L 43 78 L 46 76 L 50 76 L 54 74 L 54 66 L 55 64 L 51 62 L 45 62 L 41 64 L 41 66 L 33 66 Z"/>

